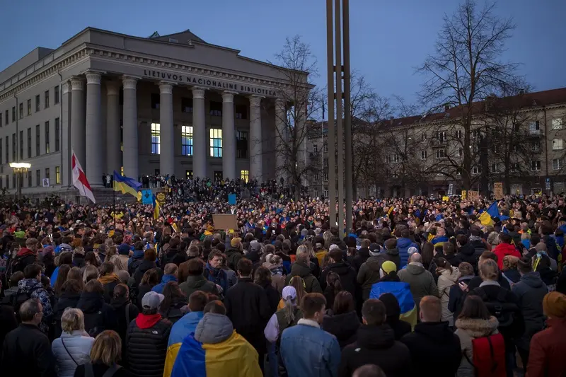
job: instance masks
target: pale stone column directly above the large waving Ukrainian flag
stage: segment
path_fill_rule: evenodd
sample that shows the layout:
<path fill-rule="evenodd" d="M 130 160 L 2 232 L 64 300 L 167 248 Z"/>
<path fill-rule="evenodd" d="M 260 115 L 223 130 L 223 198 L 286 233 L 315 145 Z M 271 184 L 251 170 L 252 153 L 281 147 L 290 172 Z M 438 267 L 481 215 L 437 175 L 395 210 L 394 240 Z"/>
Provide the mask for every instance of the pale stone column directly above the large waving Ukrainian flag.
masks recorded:
<path fill-rule="evenodd" d="M 137 150 L 137 79 L 124 77 L 124 117 L 122 130 L 124 137 L 123 159 L 124 175 L 129 178 L 138 178 L 138 150 Z M 120 139 L 118 139 L 120 140 Z"/>

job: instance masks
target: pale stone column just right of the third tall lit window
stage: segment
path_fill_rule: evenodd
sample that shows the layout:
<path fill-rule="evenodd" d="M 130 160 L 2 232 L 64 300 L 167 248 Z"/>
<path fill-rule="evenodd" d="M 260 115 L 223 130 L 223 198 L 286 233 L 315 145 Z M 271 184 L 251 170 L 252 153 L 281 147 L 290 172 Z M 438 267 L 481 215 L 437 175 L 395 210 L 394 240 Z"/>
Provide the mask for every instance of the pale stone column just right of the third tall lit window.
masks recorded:
<path fill-rule="evenodd" d="M 234 129 L 234 94 L 222 93 L 222 175 L 236 179 L 236 130 Z"/>

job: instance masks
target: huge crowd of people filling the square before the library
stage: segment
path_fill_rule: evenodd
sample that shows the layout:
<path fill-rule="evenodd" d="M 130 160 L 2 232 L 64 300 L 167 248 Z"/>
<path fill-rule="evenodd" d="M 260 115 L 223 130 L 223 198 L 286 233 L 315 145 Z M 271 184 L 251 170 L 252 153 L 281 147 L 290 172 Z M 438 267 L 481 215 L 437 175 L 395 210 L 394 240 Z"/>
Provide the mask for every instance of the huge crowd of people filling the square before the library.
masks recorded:
<path fill-rule="evenodd" d="M 346 229 L 277 182 L 166 183 L 158 219 L 0 204 L 3 376 L 564 376 L 560 195 L 360 199 Z"/>

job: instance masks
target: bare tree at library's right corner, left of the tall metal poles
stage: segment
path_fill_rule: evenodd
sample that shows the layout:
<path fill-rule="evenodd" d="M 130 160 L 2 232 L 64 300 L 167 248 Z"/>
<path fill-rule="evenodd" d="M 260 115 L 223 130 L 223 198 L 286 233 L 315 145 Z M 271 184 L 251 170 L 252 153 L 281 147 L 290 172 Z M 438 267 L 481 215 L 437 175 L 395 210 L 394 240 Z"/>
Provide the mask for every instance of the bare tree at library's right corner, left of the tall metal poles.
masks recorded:
<path fill-rule="evenodd" d="M 309 79 L 316 76 L 316 58 L 311 47 L 299 35 L 288 37 L 282 50 L 275 54 L 273 63 L 282 80 L 277 85 L 281 108 L 275 109 L 275 151 L 277 169 L 287 176 L 287 182 L 295 188 L 299 198 L 300 187 L 309 174 L 320 169 L 316 161 L 309 158 L 306 141 L 309 132 L 307 122 L 314 124 L 322 106 L 322 92 Z M 313 122 L 310 122 L 313 121 Z"/>

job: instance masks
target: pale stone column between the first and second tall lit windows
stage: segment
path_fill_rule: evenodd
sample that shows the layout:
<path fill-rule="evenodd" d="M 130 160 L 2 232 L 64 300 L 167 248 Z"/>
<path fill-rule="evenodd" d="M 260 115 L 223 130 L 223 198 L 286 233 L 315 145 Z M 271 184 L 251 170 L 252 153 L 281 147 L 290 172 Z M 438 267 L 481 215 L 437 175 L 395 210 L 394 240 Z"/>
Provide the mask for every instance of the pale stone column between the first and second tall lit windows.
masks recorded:
<path fill-rule="evenodd" d="M 159 83 L 159 123 L 161 124 L 159 146 L 159 173 L 175 174 L 175 148 L 173 137 L 173 85 Z"/>

